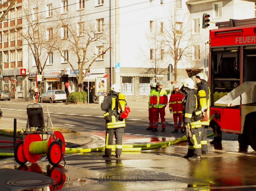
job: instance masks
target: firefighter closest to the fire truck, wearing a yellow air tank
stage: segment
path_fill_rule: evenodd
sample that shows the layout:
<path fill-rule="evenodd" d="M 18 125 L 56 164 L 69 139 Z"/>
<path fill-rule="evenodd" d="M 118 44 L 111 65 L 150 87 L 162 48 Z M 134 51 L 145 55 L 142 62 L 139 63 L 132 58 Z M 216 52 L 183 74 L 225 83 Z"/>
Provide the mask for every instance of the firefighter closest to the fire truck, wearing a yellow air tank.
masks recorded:
<path fill-rule="evenodd" d="M 201 140 L 201 145 L 202 145 L 202 154 L 208 154 L 208 147 L 207 147 L 207 128 L 209 127 L 209 115 L 210 115 L 210 88 L 207 84 L 208 81 L 208 76 L 205 73 L 198 73 L 195 76 L 195 82 L 196 85 L 198 87 L 197 89 L 197 93 L 200 90 L 204 90 L 205 91 L 205 96 L 206 96 L 206 103 L 207 103 L 207 110 L 203 111 L 204 112 L 204 116 L 207 116 L 207 121 L 201 121 L 201 126 L 204 128 L 203 130 L 203 134 L 202 134 L 202 140 Z M 200 94 L 199 94 L 200 97 Z"/>

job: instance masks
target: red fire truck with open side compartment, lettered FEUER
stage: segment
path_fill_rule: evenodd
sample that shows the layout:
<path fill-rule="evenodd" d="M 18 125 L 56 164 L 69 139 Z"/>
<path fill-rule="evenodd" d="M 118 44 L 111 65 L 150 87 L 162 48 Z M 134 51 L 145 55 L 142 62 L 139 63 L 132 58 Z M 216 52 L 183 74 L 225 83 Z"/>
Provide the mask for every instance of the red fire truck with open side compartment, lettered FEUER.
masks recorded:
<path fill-rule="evenodd" d="M 256 18 L 216 23 L 210 30 L 210 114 L 221 131 L 256 151 Z"/>

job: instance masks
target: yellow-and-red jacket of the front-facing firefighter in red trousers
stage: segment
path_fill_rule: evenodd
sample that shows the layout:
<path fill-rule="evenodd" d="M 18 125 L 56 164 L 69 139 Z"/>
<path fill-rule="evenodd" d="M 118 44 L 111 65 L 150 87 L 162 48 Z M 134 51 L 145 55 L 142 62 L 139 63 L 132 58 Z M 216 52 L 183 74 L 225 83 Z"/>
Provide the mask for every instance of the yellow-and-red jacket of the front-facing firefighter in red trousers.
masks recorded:
<path fill-rule="evenodd" d="M 167 93 L 165 90 L 153 90 L 150 93 L 150 105 L 153 106 L 154 108 L 162 108 L 167 105 L 168 102 L 168 97 Z"/>

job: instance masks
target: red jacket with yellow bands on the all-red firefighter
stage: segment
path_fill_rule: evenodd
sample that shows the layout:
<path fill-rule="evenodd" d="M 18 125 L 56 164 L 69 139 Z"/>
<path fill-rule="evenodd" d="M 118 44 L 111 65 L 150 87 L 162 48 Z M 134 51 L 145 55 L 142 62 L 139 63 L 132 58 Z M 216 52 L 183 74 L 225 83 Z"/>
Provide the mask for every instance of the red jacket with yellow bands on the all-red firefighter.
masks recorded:
<path fill-rule="evenodd" d="M 177 94 L 173 93 L 169 99 L 169 109 L 173 111 L 173 114 L 178 114 L 183 112 L 183 94 L 178 92 Z"/>

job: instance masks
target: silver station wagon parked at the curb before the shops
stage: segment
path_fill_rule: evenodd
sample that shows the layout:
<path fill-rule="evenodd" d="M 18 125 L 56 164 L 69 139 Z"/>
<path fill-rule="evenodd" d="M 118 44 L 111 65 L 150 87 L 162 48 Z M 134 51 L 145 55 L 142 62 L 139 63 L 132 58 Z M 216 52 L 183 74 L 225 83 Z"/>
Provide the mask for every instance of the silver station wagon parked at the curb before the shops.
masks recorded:
<path fill-rule="evenodd" d="M 66 102 L 67 94 L 64 90 L 48 90 L 40 97 L 40 102 L 50 102 L 54 103 L 55 101 Z"/>

